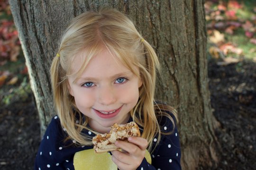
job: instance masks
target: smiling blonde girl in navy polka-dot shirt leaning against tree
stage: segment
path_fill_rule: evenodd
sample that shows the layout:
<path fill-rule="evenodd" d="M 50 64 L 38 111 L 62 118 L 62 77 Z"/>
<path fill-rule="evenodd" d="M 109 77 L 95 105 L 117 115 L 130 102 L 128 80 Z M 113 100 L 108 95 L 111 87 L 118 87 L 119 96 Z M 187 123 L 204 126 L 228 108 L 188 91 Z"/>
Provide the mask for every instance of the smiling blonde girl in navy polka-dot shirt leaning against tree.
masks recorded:
<path fill-rule="evenodd" d="M 158 69 L 155 51 L 127 16 L 103 8 L 75 17 L 52 63 L 58 115 L 40 144 L 35 170 L 181 169 L 176 112 L 154 100 Z M 121 151 L 91 152 L 93 136 L 130 121 L 141 137 L 117 141 Z"/>

